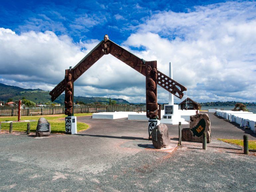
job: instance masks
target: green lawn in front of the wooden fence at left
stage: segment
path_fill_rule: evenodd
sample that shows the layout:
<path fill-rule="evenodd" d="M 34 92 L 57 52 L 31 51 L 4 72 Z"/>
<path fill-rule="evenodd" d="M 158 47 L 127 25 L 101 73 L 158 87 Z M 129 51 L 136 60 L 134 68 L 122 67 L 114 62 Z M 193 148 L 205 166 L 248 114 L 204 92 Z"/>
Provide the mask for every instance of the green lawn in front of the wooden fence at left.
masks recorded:
<path fill-rule="evenodd" d="M 75 114 L 78 116 L 89 116 L 92 113 L 78 113 Z M 35 122 L 30 122 L 30 132 L 36 132 L 37 122 L 40 117 L 46 118 L 46 120 L 51 125 L 51 133 L 65 133 L 65 120 L 61 118 L 65 118 L 66 115 L 40 115 L 40 116 L 21 116 L 21 120 L 36 120 Z M 0 121 L 17 121 L 18 117 L 0 117 Z M 13 131 L 26 132 L 27 131 L 27 123 L 13 123 Z M 1 123 L 1 130 L 9 130 L 10 123 Z M 89 128 L 89 125 L 85 123 L 77 122 L 77 132 L 84 131 Z"/>

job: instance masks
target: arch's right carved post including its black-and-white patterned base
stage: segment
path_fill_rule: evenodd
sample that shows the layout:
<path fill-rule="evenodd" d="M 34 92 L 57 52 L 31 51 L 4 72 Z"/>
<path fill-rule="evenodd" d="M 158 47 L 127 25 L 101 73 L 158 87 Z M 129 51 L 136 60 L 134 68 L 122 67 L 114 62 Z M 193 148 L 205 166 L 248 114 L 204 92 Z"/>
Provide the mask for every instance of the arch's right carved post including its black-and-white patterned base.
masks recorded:
<path fill-rule="evenodd" d="M 152 130 L 160 124 L 157 119 L 157 61 L 143 61 L 146 64 L 146 114 L 149 118 L 149 139 Z"/>

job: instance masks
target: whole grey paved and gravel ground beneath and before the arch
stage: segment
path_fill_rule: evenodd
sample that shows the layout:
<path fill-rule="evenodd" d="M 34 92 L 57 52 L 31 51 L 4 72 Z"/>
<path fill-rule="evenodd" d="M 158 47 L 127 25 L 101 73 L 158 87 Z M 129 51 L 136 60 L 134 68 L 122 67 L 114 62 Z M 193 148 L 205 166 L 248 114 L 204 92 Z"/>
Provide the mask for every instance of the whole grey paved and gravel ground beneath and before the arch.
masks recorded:
<path fill-rule="evenodd" d="M 209 116 L 213 138 L 243 137 L 242 129 Z M 90 129 L 40 139 L 0 134 L 0 191 L 256 190 L 255 154 L 229 149 L 237 146 L 213 139 L 207 151 L 183 142 L 173 153 L 159 152 L 146 148 L 145 121 L 77 120 Z M 168 127 L 176 144 L 178 128 Z"/>

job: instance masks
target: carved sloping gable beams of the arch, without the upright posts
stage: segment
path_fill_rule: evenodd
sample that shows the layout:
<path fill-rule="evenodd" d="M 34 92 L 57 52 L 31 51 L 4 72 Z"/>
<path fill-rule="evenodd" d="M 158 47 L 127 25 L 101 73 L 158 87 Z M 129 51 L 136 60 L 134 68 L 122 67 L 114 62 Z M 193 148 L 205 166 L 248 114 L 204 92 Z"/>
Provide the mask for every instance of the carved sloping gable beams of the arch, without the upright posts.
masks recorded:
<path fill-rule="evenodd" d="M 87 69 L 89 69 L 97 60 L 99 60 L 105 54 L 112 54 L 119 60 L 123 61 L 139 73 L 146 76 L 146 61 L 135 56 L 129 51 L 121 48 L 114 42 L 110 41 L 108 36 L 104 36 L 104 41 L 101 41 L 91 52 L 89 52 L 75 67 L 73 67 L 73 81 L 78 79 Z M 150 61 L 151 62 L 151 61 Z M 157 69 L 157 68 L 155 68 Z M 183 91 L 187 88 L 178 82 L 174 81 L 170 77 L 157 70 L 157 84 L 179 97 L 183 97 Z M 54 101 L 65 90 L 65 79 L 62 80 L 51 92 L 51 99 Z"/>

